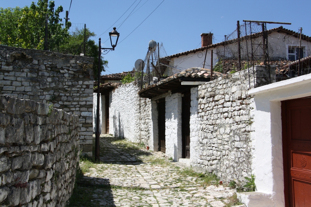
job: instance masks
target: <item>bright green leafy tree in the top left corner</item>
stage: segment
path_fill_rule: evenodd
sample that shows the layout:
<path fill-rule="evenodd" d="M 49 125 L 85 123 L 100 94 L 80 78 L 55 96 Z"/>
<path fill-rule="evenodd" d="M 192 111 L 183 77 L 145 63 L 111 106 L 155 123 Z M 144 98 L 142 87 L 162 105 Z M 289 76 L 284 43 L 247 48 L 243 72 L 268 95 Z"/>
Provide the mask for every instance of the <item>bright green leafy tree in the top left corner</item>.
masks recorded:
<path fill-rule="evenodd" d="M 0 43 L 14 47 L 44 49 L 45 20 L 48 16 L 48 49 L 58 51 L 68 38 L 69 22 L 63 27 L 59 13 L 63 7 L 54 9 L 54 1 L 38 0 L 30 7 L 0 9 L 0 22 L 6 29 L 0 34 Z M 2 21 L 4 20 L 4 21 Z"/>

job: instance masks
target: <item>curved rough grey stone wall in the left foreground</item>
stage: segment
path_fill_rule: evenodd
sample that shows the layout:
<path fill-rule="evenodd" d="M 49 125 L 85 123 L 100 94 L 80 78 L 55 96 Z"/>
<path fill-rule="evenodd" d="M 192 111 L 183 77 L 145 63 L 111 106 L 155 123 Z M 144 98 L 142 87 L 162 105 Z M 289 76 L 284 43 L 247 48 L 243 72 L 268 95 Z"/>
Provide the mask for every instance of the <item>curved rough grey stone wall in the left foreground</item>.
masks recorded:
<path fill-rule="evenodd" d="M 79 117 L 0 95 L 0 206 L 65 206 L 79 160 Z"/>

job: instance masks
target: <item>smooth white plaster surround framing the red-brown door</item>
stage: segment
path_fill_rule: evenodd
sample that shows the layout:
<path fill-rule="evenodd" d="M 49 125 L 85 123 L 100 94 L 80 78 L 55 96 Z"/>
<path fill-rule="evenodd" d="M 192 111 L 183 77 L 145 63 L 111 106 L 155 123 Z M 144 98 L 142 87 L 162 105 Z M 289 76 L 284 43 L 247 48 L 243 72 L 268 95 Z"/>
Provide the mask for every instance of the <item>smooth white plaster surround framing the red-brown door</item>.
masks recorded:
<path fill-rule="evenodd" d="M 311 96 L 311 74 L 249 90 L 254 95 L 255 142 L 253 173 L 257 191 L 271 194 L 275 206 L 284 203 L 281 101 Z"/>

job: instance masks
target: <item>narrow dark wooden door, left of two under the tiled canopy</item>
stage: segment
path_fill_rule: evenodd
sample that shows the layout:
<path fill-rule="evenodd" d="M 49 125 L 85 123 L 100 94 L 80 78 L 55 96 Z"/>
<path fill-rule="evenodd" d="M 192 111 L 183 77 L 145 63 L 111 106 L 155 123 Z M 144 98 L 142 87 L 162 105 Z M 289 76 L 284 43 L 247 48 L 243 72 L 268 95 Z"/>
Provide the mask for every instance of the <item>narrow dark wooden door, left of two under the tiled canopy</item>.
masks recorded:
<path fill-rule="evenodd" d="M 165 153 L 165 99 L 158 103 L 159 151 Z"/>

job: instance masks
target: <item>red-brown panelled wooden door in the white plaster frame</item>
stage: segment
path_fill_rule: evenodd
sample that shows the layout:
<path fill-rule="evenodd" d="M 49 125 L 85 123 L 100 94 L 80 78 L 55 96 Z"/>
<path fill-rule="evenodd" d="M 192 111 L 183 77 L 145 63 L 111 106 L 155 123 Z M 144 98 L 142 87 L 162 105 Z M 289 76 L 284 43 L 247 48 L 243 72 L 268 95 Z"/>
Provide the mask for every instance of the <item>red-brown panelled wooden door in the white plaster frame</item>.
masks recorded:
<path fill-rule="evenodd" d="M 311 98 L 282 101 L 285 202 L 311 206 Z"/>

